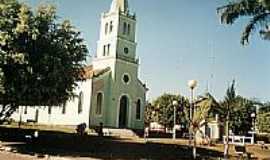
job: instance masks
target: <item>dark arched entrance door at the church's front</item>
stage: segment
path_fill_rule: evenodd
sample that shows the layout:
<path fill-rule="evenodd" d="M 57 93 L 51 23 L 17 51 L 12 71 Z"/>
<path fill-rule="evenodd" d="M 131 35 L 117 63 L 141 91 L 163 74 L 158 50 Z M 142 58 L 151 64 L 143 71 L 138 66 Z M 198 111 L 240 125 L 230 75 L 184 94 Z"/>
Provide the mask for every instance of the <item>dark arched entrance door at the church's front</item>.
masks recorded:
<path fill-rule="evenodd" d="M 128 122 L 128 97 L 122 96 L 120 99 L 119 128 L 126 128 Z"/>

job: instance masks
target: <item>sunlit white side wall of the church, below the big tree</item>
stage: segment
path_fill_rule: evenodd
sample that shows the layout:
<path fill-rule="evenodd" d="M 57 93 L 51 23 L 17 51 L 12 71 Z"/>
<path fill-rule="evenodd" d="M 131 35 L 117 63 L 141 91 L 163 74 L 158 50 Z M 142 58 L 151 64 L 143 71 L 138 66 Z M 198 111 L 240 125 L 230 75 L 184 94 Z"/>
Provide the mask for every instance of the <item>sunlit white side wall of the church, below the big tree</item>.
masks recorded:
<path fill-rule="evenodd" d="M 71 99 L 66 104 L 66 113 L 62 113 L 62 106 L 52 107 L 51 114 L 48 113 L 49 107 L 37 106 L 27 107 L 27 114 L 24 114 L 25 107 L 19 107 L 12 118 L 16 121 L 22 118 L 23 122 L 35 120 L 36 110 L 39 110 L 38 123 L 47 125 L 78 125 L 80 123 L 89 124 L 89 113 L 92 93 L 92 80 L 78 82 L 78 87 L 74 91 L 77 95 L 83 92 L 82 112 L 78 113 L 78 98 Z"/>

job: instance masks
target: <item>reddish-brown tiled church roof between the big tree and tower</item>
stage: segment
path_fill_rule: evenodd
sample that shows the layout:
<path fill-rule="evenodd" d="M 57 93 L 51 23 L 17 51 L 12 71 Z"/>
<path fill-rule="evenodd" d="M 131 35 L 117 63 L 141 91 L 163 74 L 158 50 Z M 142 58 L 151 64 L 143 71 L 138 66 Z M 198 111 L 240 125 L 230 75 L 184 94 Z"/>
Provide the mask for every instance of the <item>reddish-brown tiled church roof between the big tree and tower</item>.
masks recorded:
<path fill-rule="evenodd" d="M 98 77 L 108 71 L 110 71 L 110 67 L 104 69 L 94 69 L 93 65 L 89 65 L 83 68 L 81 73 L 81 79 L 92 79 L 94 77 Z"/>

